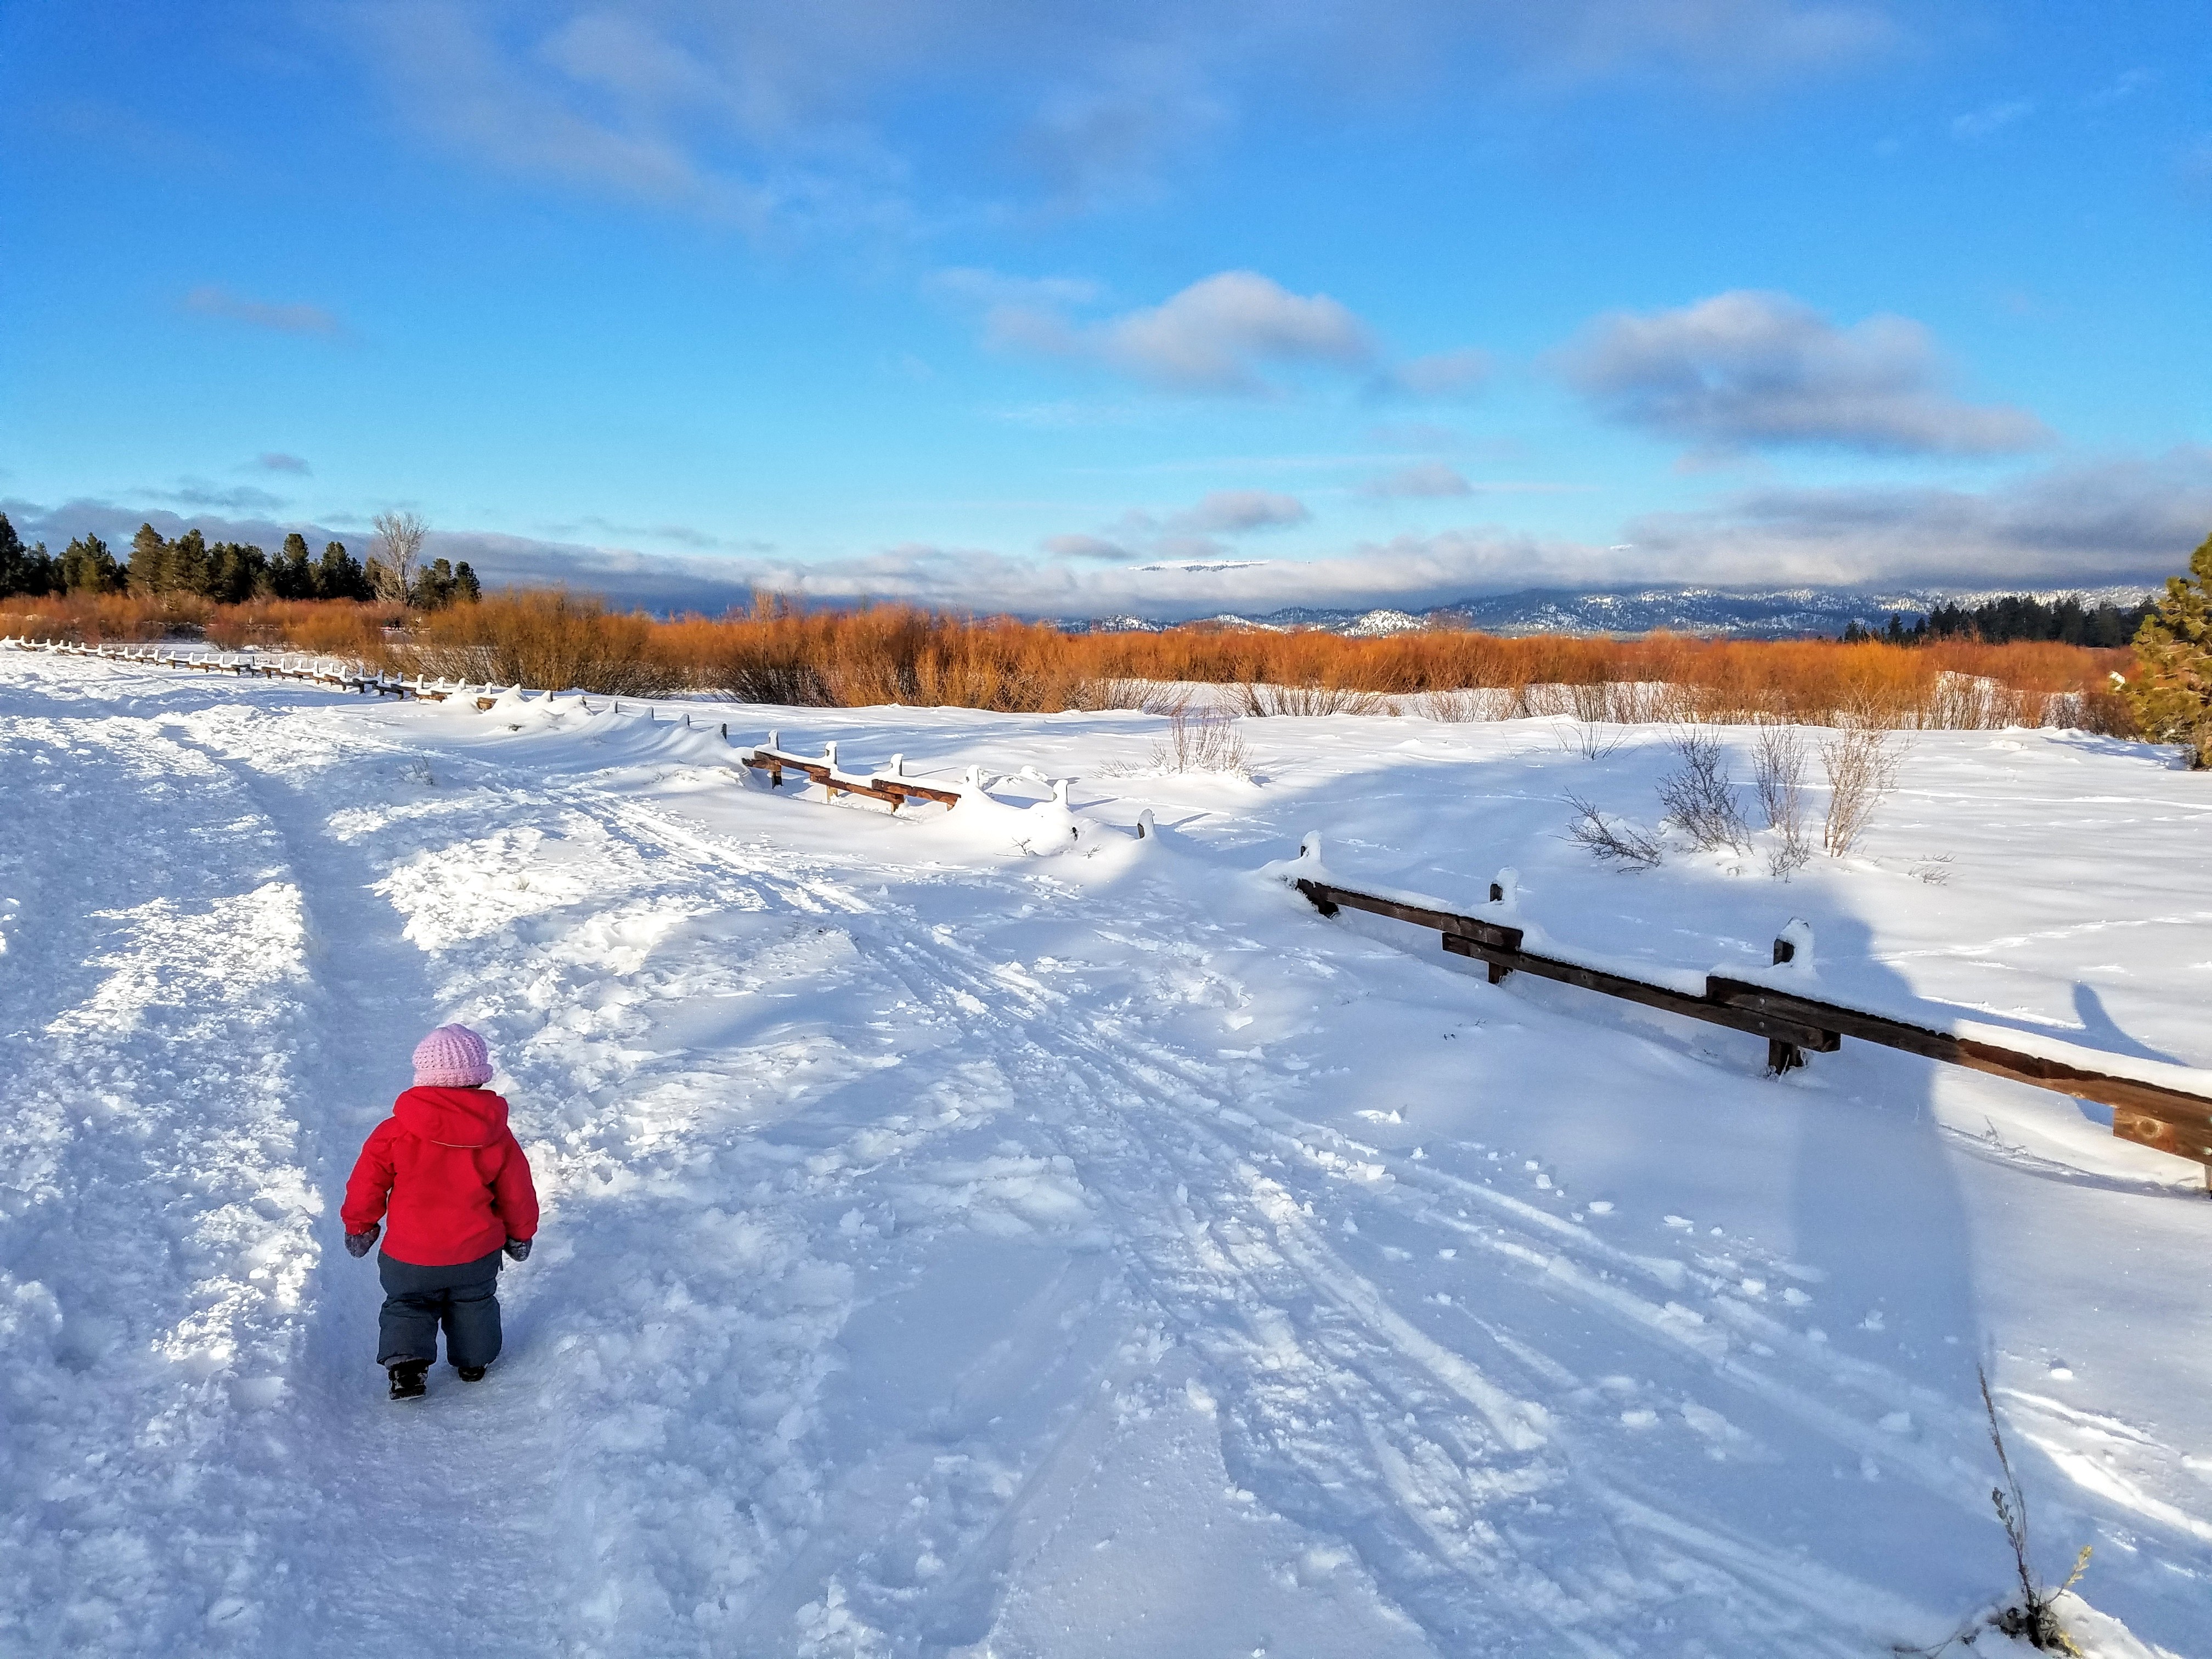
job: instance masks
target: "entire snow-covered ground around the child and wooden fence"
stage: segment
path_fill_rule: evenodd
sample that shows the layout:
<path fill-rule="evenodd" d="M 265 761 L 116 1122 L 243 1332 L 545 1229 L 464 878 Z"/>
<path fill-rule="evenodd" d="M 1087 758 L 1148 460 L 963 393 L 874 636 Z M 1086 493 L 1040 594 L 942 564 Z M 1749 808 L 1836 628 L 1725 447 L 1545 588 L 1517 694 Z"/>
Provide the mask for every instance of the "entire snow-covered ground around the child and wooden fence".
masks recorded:
<path fill-rule="evenodd" d="M 1256 874 L 1513 865 L 1650 971 L 1803 916 L 1838 1000 L 2205 1068 L 2201 776 L 1922 734 L 1778 885 L 1559 838 L 1657 737 L 695 708 L 1013 774 L 894 818 L 672 710 L 0 653 L 0 1652 L 1880 1655 L 2008 1584 L 1978 1360 L 2086 1646 L 2208 1650 L 2194 1166 Z M 394 1407 L 336 1197 L 440 1020 L 546 1228 L 491 1380 Z"/>

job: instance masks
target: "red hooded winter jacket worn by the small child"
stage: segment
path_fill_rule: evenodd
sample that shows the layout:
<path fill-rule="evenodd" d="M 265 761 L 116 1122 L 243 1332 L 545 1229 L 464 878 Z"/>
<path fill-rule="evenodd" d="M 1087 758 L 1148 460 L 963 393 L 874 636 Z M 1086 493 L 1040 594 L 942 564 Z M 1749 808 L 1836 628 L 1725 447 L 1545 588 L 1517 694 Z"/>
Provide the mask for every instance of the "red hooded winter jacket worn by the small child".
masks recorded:
<path fill-rule="evenodd" d="M 338 1214 L 367 1232 L 392 1210 L 385 1254 L 451 1267 L 538 1232 L 531 1164 L 489 1088 L 409 1088 L 369 1130 Z"/>

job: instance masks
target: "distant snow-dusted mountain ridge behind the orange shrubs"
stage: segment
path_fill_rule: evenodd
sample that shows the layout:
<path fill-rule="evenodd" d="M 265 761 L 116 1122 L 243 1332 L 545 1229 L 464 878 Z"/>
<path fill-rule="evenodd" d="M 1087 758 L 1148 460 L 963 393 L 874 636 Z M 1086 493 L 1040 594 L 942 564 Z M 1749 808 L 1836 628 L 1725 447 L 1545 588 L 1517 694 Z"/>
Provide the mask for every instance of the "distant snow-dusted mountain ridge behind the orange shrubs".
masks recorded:
<path fill-rule="evenodd" d="M 2152 584 L 2119 584 L 2099 588 L 1522 588 L 1520 593 L 1486 593 L 1475 599 L 1431 606 L 1429 611 L 1332 611 L 1323 606 L 1285 606 L 1263 615 L 1234 611 L 1197 617 L 1223 628 L 1261 628 L 1287 633 L 1318 628 L 1354 639 L 1411 633 L 1436 624 L 1480 628 L 1482 633 L 1670 633 L 1719 635 L 1728 639 L 1792 639 L 1803 635 L 1840 635 L 1860 622 L 1880 628 L 1889 617 L 1918 617 L 1938 604 L 1975 606 L 1984 599 L 2022 595 L 2051 604 L 2079 599 L 2086 606 L 2137 604 Z M 1068 633 L 1157 633 L 1177 624 L 1150 617 L 1091 617 L 1060 622 Z"/>

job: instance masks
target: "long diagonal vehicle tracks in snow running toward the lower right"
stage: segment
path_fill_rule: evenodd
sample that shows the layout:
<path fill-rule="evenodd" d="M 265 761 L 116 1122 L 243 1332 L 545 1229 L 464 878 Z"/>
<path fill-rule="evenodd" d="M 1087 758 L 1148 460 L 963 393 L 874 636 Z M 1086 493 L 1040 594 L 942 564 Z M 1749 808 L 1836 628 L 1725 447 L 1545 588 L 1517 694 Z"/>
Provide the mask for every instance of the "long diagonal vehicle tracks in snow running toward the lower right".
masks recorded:
<path fill-rule="evenodd" d="M 765 860 L 754 854 L 734 849 L 710 832 L 672 823 L 650 807 L 593 799 L 588 785 L 564 785 L 557 792 L 571 805 L 655 841 L 668 856 L 721 869 L 739 863 L 765 876 Z M 1157 1241 L 1161 1230 L 1146 1225 L 1148 1203 L 1168 1177 L 1177 1177 L 1175 1186 L 1186 1197 L 1197 1179 L 1206 1219 L 1186 1214 L 1179 1250 L 1135 1256 L 1148 1294 L 1190 1340 L 1208 1347 L 1208 1360 L 1225 1391 L 1248 1402 L 1248 1469 L 1272 1467 L 1279 1478 L 1290 1471 L 1303 1484 L 1303 1491 L 1285 1491 L 1276 1482 L 1270 1491 L 1276 1506 L 1305 1524 L 1363 1542 L 1369 1566 L 1433 1635 L 1451 1641 L 1520 1641 L 1526 1648 L 1528 1632 L 1544 1628 L 1559 1652 L 1573 1652 L 1597 1639 L 1593 1628 L 1641 1628 L 1655 1606 L 1679 1601 L 1683 1579 L 1699 1579 L 1728 1608 L 1728 1621 L 1714 1635 L 1741 1637 L 1739 1626 L 1750 1624 L 1772 1639 L 1856 1650 L 1854 1639 L 1818 1630 L 1834 1608 L 1836 1575 L 1803 1571 L 1803 1564 L 1750 1540 L 1692 1526 L 1679 1515 L 1668 1517 L 1666 1526 L 1650 1524 L 1648 1517 L 1663 1515 L 1663 1509 L 1615 1491 L 1586 1467 L 1575 1469 L 1575 1447 L 1566 1436 L 1546 1433 L 1553 1425 L 1533 1400 L 1511 1396 L 1464 1356 L 1422 1336 L 1358 1272 L 1321 1245 L 1318 1230 L 1301 1217 L 1301 1206 L 1261 1175 L 1254 1146 L 1237 1146 L 1225 1137 L 1223 1130 L 1243 1128 L 1250 1141 L 1261 1144 L 1261 1161 L 1279 1161 L 1274 1137 L 1254 1133 L 1254 1119 L 1221 1097 L 1214 1082 L 1219 1066 L 1159 1051 L 1133 1060 L 1115 1037 L 1095 1035 L 1086 1022 L 1060 1020 L 1037 1042 L 1026 1033 L 1026 1024 L 1044 1015 L 1033 984 L 1009 982 L 1000 964 L 989 964 L 938 933 L 922 938 L 918 929 L 894 931 L 880 907 L 838 891 L 825 874 L 832 860 L 799 856 L 774 863 L 785 865 L 779 891 L 785 902 L 856 918 L 856 929 L 874 936 L 874 953 L 896 960 L 909 982 L 936 984 L 947 1000 L 967 998 L 964 1006 L 989 1011 L 971 1018 L 969 1035 L 995 1035 L 989 1051 L 1006 1075 L 1029 1077 L 1037 1091 L 1066 1086 L 1071 1073 L 1084 1077 L 1086 1110 L 1068 1115 L 1060 1126 L 1060 1144 L 1075 1157 L 1086 1186 L 1124 1214 L 1124 1239 Z M 814 874 L 790 883 L 790 863 L 805 863 Z M 991 883 L 984 878 L 975 885 Z M 949 967 L 953 960 L 962 967 Z M 1009 1006 L 1020 1018 L 995 1026 L 993 1015 Z M 1006 1035 L 998 1035 L 1000 1026 Z M 1144 1121 L 1157 1119 L 1161 1095 L 1179 1113 L 1203 1115 L 1212 1133 L 1188 1115 L 1166 1126 L 1166 1135 L 1157 1121 Z M 1110 1152 L 1099 1146 L 1102 1124 L 1121 1130 L 1113 1137 Z M 1177 1137 L 1197 1137 L 1203 1144 L 1199 1155 L 1177 1155 Z M 1124 1166 L 1119 1179 L 1102 1181 L 1102 1170 L 1108 1168 L 1102 1152 Z M 1318 1172 L 1334 1177 L 1334 1170 Z M 1548 1254 L 1520 1248 L 1524 1265 L 1548 1261 Z M 1334 1310 L 1334 1318 L 1316 1316 L 1316 1294 Z M 1232 1307 L 1232 1323 L 1245 1327 L 1243 1343 L 1221 1343 L 1223 1307 Z M 1641 1316 L 1632 1323 L 1644 1327 L 1637 1334 L 1670 1336 L 1663 1307 L 1637 1298 L 1637 1312 Z M 1504 1343 L 1500 1349 L 1511 1356 Z M 1526 1345 L 1520 1349 L 1531 1354 Z M 1464 1420 L 1438 1413 L 1436 1383 L 1473 1405 L 1482 1425 L 1471 1429 Z M 1325 1411 L 1314 1409 L 1316 1398 L 1327 1400 Z M 1422 1411 L 1440 1420 L 1413 1429 Z M 1347 1462 L 1356 1442 L 1336 1431 L 1345 1422 L 1363 1425 L 1365 1460 L 1352 1455 Z M 1546 1431 L 1531 1427 L 1540 1422 Z M 1502 1438 L 1500 1425 L 1513 1425 L 1513 1438 Z M 1856 1427 L 1843 1418 L 1836 1425 Z M 1860 1438 L 1860 1444 L 1867 1440 Z M 1889 1451 L 1880 1444 L 1876 1449 Z M 1500 1453 L 1542 1455 L 1524 1458 L 1522 1467 L 1502 1467 Z M 1586 1462 L 1588 1449 L 1579 1455 Z M 1358 1506 L 1347 1513 L 1347 1504 L 1334 1495 L 1314 1498 L 1316 1491 L 1332 1493 L 1347 1484 L 1365 1491 L 1365 1513 Z M 1484 1513 L 1498 1504 L 1555 1511 L 1562 1502 L 1579 1504 L 1582 1515 L 1577 1522 L 1546 1522 L 1537 1528 L 1546 1533 L 1542 1546 L 1535 1546 L 1526 1520 L 1500 1526 Z M 1577 1559 L 1588 1557 L 1590 1548 L 1575 1540 L 1613 1537 L 1617 1524 L 1632 1526 L 1635 1537 L 1597 1551 L 1595 1562 Z M 1436 1579 L 1420 1582 L 1418 1573 L 1407 1571 L 1407 1562 L 1422 1557 L 1438 1564 Z M 1566 1562 L 1571 1582 L 1535 1571 L 1533 1559 Z M 1887 1601 L 1867 1586 L 1858 1586 L 1854 1599 L 1863 1608 Z M 1896 1610 L 1896 1617 L 1905 1615 L 1909 1610 Z"/>

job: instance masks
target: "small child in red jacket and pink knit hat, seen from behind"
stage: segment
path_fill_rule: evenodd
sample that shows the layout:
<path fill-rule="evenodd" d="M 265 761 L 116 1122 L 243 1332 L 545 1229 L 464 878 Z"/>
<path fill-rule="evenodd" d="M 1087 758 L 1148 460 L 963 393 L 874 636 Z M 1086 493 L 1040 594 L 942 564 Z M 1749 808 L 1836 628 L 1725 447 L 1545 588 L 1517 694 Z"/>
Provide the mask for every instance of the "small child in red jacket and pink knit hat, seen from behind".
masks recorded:
<path fill-rule="evenodd" d="M 385 1285 L 376 1363 L 392 1371 L 394 1400 L 420 1400 L 425 1374 L 445 1356 L 462 1383 L 480 1383 L 500 1356 L 500 1252 L 531 1254 L 538 1190 L 531 1164 L 507 1128 L 507 1102 L 491 1082 L 491 1055 L 469 1026 L 438 1026 L 416 1046 L 416 1086 L 392 1102 L 345 1183 L 345 1248 L 369 1254 L 383 1219 L 392 1230 L 376 1256 Z"/>

